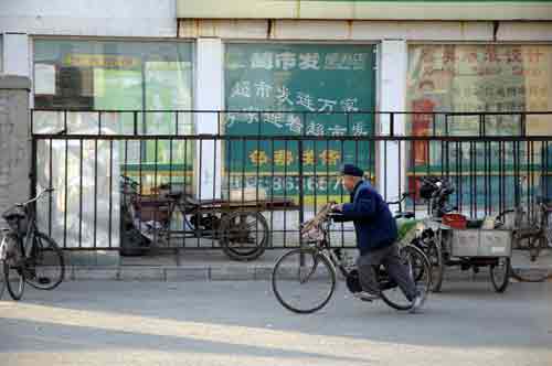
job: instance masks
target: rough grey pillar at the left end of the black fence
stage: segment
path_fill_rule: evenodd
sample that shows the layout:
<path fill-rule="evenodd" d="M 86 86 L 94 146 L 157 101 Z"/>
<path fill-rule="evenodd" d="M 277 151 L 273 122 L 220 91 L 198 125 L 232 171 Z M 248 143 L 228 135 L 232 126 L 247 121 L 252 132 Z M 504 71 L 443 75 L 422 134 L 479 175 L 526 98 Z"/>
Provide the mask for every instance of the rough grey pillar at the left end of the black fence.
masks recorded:
<path fill-rule="evenodd" d="M 0 74 L 0 213 L 29 197 L 28 77 Z"/>

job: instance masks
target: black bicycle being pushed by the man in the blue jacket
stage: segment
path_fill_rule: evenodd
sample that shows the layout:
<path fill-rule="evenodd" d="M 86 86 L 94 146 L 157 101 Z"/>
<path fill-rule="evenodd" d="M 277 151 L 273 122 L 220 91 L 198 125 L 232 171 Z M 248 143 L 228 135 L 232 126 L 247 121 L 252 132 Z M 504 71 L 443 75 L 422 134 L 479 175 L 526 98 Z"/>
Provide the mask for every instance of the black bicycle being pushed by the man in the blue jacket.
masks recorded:
<path fill-rule="evenodd" d="M 283 255 L 275 263 L 272 274 L 272 288 L 278 302 L 296 313 L 312 313 L 322 309 L 331 299 L 337 287 L 337 269 L 346 279 L 350 292 L 360 292 L 359 273 L 350 265 L 340 248 L 331 248 L 330 226 L 331 205 L 326 204 L 311 219 L 301 225 L 300 235 L 306 246 Z M 400 249 L 401 258 L 408 266 L 416 288 L 423 291 L 424 300 L 431 286 L 431 266 L 427 257 L 414 246 Z M 383 266 L 376 268 L 381 299 L 396 310 L 410 310 L 412 302 L 406 299 Z M 294 287 L 298 284 L 298 289 Z M 295 300 L 309 300 L 314 289 L 320 297 L 305 306 Z M 290 291 L 288 291 L 290 290 Z M 288 293 L 290 292 L 290 293 Z"/>

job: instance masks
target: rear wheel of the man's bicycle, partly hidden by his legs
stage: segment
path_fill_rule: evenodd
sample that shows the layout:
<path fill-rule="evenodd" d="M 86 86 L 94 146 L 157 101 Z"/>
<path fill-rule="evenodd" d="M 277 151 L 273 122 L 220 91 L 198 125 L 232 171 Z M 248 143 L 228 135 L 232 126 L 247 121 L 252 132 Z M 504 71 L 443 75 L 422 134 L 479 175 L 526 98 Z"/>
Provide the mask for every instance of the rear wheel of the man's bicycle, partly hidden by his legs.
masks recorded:
<path fill-rule="evenodd" d="M 424 301 L 432 286 L 432 266 L 427 256 L 418 248 L 407 245 L 400 250 L 401 260 L 407 267 L 416 289 L 422 293 Z M 407 299 L 395 281 L 388 279 L 380 282 L 382 300 L 393 309 L 410 310 L 412 300 Z"/>

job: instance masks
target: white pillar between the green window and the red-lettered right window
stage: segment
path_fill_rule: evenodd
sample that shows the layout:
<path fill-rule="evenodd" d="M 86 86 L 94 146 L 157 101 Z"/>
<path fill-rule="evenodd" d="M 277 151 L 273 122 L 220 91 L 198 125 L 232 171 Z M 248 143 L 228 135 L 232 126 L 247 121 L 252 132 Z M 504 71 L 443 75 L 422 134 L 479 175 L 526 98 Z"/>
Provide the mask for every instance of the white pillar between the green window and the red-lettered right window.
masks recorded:
<path fill-rule="evenodd" d="M 406 42 L 382 41 L 380 56 L 380 110 L 404 111 L 406 96 Z M 391 116 L 382 115 L 380 118 L 380 132 L 390 133 Z M 393 133 L 396 136 L 405 132 L 405 116 L 394 115 Z M 397 198 L 405 186 L 405 144 L 399 142 L 379 143 L 379 172 L 378 189 L 388 201 Z"/>

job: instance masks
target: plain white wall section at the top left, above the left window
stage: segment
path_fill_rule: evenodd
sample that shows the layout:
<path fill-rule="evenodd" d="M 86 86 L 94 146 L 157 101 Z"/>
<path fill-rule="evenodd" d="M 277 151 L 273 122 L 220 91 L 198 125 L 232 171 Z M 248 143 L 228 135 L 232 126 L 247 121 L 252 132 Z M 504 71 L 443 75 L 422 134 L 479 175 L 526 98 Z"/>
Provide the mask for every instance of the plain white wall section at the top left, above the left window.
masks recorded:
<path fill-rule="evenodd" d="M 174 0 L 3 0 L 0 33 L 167 37 L 176 9 Z"/>

